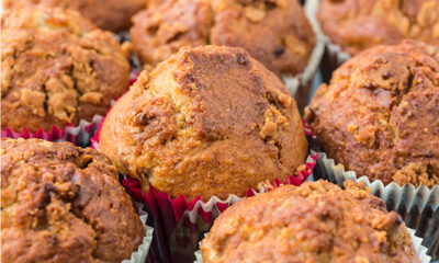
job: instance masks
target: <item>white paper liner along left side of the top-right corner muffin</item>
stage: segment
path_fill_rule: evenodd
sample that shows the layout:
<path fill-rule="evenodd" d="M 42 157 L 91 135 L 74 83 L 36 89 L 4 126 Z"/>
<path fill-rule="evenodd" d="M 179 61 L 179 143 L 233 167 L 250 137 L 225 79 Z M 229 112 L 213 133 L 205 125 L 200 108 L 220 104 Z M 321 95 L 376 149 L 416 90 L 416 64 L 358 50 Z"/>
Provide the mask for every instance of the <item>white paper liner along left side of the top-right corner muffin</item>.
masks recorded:
<path fill-rule="evenodd" d="M 351 56 L 342 50 L 339 45 L 331 43 L 328 36 L 323 33 L 317 20 L 317 12 L 322 0 L 306 0 L 305 12 L 309 20 L 314 21 L 316 26 L 316 34 L 324 43 L 324 52 L 320 62 L 320 70 L 325 82 L 330 80 L 333 71 L 336 70 L 341 64 L 351 58 Z"/>

